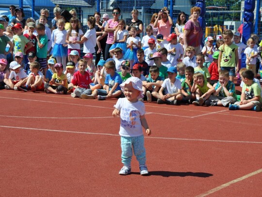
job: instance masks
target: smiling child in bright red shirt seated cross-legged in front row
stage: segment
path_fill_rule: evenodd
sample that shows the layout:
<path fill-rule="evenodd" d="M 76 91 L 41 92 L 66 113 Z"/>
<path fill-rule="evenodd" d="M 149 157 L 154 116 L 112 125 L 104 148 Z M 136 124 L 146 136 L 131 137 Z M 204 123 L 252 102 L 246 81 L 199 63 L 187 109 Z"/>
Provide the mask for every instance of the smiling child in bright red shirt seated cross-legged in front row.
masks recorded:
<path fill-rule="evenodd" d="M 91 94 L 90 83 L 92 80 L 89 76 L 89 73 L 86 70 L 87 62 L 84 60 L 78 61 L 78 71 L 74 73 L 71 83 L 68 84 L 68 87 L 73 87 L 74 92 L 71 93 L 73 98 L 80 97 L 82 94 Z"/>

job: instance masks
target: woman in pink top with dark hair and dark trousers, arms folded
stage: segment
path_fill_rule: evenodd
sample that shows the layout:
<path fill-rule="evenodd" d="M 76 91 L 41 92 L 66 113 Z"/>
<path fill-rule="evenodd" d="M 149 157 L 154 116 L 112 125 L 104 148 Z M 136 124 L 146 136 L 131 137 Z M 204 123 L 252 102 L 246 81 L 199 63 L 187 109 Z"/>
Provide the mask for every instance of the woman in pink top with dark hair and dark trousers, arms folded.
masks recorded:
<path fill-rule="evenodd" d="M 108 33 L 105 53 L 104 53 L 105 60 L 110 58 L 109 49 L 113 45 L 113 42 L 114 42 L 114 32 L 118 26 L 119 16 L 121 15 L 120 8 L 114 8 L 112 15 L 113 15 L 113 19 L 109 19 L 105 27 L 105 31 Z"/>

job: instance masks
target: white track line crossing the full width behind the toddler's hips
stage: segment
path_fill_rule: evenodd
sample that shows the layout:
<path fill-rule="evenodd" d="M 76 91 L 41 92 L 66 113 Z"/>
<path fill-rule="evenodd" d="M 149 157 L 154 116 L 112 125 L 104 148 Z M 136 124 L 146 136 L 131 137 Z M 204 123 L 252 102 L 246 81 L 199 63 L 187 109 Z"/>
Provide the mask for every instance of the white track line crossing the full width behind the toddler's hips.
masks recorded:
<path fill-rule="evenodd" d="M 105 134 L 105 133 L 91 133 L 91 132 L 79 132 L 79 131 L 63 131 L 54 129 L 41 129 L 41 128 L 29 128 L 29 127 L 16 127 L 16 126 L 2 126 L 3 128 L 14 128 L 14 129 L 27 129 L 36 131 L 53 131 L 53 132 L 63 132 L 63 133 L 77 133 L 77 134 L 94 134 L 94 135 L 105 135 L 105 136 L 119 136 L 118 134 Z M 212 139 L 187 139 L 187 138 L 173 138 L 173 137 L 147 137 L 151 139 L 171 139 L 171 140 L 187 140 L 187 141 L 208 141 L 208 142 L 231 142 L 231 143 L 252 143 L 252 144 L 262 144 L 262 142 L 250 142 L 250 141 L 229 141 L 229 140 L 212 140 Z"/>

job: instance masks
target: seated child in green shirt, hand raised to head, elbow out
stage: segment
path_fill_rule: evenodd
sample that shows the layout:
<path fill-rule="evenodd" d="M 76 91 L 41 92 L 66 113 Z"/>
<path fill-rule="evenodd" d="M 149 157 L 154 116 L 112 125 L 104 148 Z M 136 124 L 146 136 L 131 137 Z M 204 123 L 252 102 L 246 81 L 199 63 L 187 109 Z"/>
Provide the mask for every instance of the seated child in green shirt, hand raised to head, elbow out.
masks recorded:
<path fill-rule="evenodd" d="M 192 104 L 195 106 L 202 106 L 215 90 L 213 86 L 207 82 L 202 73 L 195 73 L 193 78 L 194 83 L 192 85 L 191 92 L 195 92 L 197 100 L 193 101 Z"/>

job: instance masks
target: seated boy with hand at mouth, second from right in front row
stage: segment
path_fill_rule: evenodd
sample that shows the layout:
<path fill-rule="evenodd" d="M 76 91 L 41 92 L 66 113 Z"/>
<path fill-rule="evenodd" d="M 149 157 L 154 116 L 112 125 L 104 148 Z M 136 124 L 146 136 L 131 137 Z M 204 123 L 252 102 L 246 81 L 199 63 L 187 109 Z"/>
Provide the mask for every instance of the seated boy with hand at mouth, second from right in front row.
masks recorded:
<path fill-rule="evenodd" d="M 229 72 L 227 70 L 219 72 L 218 83 L 215 83 L 213 87 L 215 91 L 205 102 L 206 106 L 227 107 L 237 100 L 235 84 L 229 81 Z"/>

